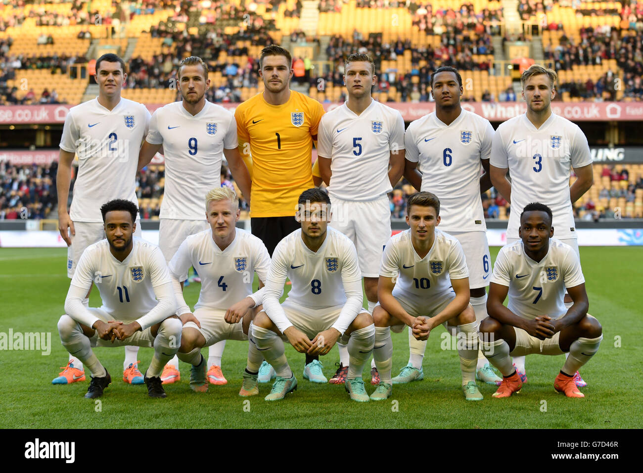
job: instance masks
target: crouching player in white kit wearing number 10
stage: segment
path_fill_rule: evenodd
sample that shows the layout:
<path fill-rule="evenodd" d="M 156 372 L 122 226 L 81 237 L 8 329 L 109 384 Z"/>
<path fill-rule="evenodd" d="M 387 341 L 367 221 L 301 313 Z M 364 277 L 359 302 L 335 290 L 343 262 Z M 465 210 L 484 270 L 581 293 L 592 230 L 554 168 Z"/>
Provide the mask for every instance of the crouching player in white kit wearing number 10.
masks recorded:
<path fill-rule="evenodd" d="M 400 332 L 406 324 L 413 337 L 427 340 L 442 324 L 460 339 L 457 346 L 466 400 L 482 400 L 475 382 L 478 324 L 469 304 L 469 270 L 462 245 L 435 228 L 440 223 L 440 201 L 431 192 L 408 198 L 406 223 L 411 228 L 392 236 L 382 256 L 379 305 L 373 311 L 373 358 L 380 382 L 370 398 L 385 400 L 392 393 L 390 329 Z"/>

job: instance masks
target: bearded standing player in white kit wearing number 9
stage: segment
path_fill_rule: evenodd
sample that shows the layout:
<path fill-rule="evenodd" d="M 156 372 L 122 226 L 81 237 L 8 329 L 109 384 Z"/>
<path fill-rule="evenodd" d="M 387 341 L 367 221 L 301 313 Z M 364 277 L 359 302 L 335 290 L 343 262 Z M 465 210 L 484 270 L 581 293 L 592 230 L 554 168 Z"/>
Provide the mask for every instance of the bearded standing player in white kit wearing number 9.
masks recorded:
<path fill-rule="evenodd" d="M 210 88 L 208 65 L 196 56 L 183 59 L 177 84 L 183 100 L 154 111 L 138 163 L 142 169 L 163 147 L 165 195 L 159 215 L 159 247 L 167 261 L 188 235 L 209 228 L 201 199 L 221 181 L 223 155 L 242 194 L 250 195 L 248 169 L 237 151 L 234 116 L 205 99 Z M 181 277 L 181 281 L 187 279 L 187 270 Z M 225 344 L 222 340 L 210 348 L 208 379 L 212 384 L 228 382 L 221 372 Z M 173 358 L 161 376 L 164 384 L 180 379 L 178 368 L 178 358 Z"/>

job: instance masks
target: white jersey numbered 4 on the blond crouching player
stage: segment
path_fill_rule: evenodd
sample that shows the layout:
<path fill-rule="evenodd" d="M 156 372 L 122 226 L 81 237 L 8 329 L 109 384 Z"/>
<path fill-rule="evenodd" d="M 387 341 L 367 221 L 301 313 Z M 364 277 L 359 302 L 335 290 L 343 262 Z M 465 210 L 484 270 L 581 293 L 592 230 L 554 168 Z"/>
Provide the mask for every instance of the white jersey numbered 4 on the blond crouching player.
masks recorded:
<path fill-rule="evenodd" d="M 194 266 L 201 278 L 201 292 L 194 310 L 228 310 L 252 292 L 255 271 L 266 282 L 270 256 L 266 245 L 246 230 L 235 229 L 235 239 L 223 251 L 212 238 L 212 228 L 188 236 L 170 261 L 177 280 Z"/>

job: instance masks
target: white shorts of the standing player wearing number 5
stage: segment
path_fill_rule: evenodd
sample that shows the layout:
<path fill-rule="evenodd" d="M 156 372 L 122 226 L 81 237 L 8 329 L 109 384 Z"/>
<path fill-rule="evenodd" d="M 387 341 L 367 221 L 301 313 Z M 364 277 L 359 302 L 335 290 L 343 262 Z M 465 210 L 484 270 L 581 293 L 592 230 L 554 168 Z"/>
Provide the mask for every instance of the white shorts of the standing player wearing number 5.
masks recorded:
<path fill-rule="evenodd" d="M 391 237 L 391 209 L 388 197 L 352 201 L 331 198 L 332 228 L 345 234 L 358 250 L 363 277 L 379 277 L 386 242 Z"/>

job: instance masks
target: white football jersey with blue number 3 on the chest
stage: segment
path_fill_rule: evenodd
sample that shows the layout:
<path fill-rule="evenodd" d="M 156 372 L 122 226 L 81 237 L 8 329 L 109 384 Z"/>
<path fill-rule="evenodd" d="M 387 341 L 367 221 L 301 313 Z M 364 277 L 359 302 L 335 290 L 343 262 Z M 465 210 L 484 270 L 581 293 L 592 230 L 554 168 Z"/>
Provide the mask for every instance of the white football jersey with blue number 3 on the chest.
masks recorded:
<path fill-rule="evenodd" d="M 518 238 L 525 205 L 540 202 L 552 209 L 556 238 L 577 238 L 569 196 L 570 167 L 592 164 L 587 138 L 562 116 L 552 115 L 539 129 L 526 114 L 500 124 L 493 137 L 491 165 L 509 168 L 511 214 L 508 238 Z"/>

